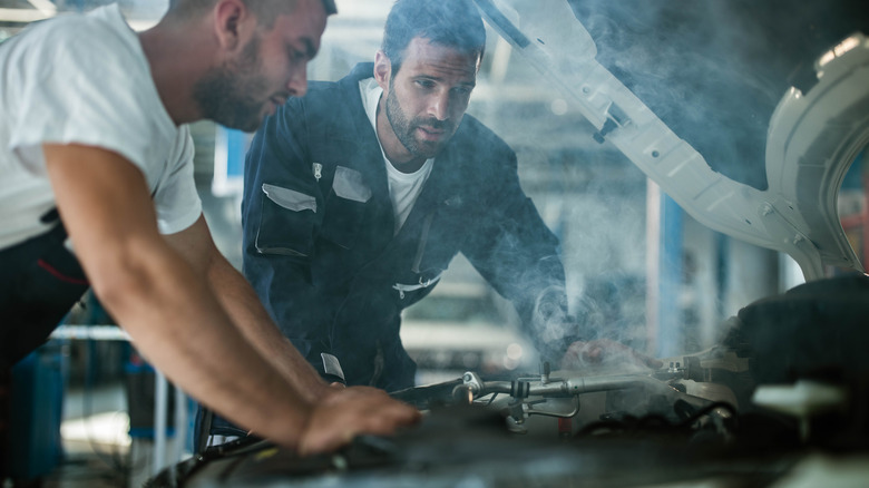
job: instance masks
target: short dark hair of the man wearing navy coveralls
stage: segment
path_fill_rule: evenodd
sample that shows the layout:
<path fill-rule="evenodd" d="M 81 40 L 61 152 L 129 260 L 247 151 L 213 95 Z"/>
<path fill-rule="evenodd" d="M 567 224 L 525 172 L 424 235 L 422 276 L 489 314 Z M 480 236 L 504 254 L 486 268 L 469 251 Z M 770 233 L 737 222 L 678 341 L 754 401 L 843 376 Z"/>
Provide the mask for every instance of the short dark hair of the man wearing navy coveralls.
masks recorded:
<path fill-rule="evenodd" d="M 417 37 L 439 46 L 477 53 L 486 50 L 486 28 L 471 0 L 397 0 L 387 17 L 381 50 L 401 67 L 404 49 Z"/>

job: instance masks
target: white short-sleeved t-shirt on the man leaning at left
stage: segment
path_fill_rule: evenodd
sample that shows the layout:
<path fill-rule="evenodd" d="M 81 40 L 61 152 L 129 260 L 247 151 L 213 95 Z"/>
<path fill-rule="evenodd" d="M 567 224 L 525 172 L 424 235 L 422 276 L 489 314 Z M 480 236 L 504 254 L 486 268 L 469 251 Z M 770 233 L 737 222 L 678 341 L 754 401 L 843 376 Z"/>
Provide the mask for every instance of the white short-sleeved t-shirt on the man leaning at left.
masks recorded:
<path fill-rule="evenodd" d="M 136 33 L 117 6 L 32 25 L 0 45 L 0 248 L 50 228 L 43 143 L 109 149 L 141 169 L 165 234 L 202 203 L 193 140 L 157 94 Z"/>

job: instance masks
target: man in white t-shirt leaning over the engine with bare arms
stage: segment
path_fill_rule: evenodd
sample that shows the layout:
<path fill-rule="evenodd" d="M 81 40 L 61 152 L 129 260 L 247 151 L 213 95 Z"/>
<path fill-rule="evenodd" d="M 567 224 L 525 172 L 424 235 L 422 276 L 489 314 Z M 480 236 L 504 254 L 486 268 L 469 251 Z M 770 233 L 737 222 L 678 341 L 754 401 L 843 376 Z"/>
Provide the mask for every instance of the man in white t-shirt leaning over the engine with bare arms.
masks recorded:
<path fill-rule="evenodd" d="M 216 250 L 194 188 L 185 124 L 254 130 L 302 96 L 333 12 L 178 0 L 137 35 L 110 6 L 0 46 L 1 369 L 91 286 L 173 382 L 281 445 L 322 451 L 418 418 L 320 379 Z"/>

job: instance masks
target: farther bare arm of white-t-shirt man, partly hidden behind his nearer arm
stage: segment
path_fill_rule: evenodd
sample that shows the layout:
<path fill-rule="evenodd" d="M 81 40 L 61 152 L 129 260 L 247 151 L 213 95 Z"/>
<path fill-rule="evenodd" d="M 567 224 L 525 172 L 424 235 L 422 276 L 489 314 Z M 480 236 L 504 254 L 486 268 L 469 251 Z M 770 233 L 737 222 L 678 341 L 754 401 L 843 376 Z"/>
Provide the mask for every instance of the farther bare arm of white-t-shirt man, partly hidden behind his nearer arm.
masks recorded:
<path fill-rule="evenodd" d="M 304 398 L 314 402 L 331 394 L 318 372 L 274 325 L 244 276 L 214 245 L 205 218 L 199 217 L 191 227 L 166 238 L 198 274 L 208 277 L 221 305 L 245 338 Z"/>

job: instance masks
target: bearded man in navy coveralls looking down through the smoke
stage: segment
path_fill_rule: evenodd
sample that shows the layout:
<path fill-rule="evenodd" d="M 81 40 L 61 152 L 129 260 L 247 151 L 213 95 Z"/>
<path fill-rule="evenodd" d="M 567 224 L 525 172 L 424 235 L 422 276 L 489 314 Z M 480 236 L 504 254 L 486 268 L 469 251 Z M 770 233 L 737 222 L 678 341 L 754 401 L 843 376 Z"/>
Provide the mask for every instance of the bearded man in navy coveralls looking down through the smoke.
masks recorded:
<path fill-rule="evenodd" d="M 558 241 L 520 187 L 516 154 L 465 114 L 485 42 L 470 0 L 399 0 L 373 65 L 312 82 L 252 141 L 244 274 L 302 354 L 320 368 L 321 353 L 335 355 L 348 384 L 413 385 L 401 311 L 459 252 L 544 359 L 580 339 Z"/>

